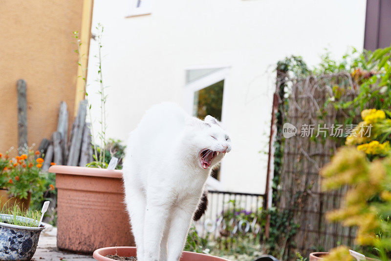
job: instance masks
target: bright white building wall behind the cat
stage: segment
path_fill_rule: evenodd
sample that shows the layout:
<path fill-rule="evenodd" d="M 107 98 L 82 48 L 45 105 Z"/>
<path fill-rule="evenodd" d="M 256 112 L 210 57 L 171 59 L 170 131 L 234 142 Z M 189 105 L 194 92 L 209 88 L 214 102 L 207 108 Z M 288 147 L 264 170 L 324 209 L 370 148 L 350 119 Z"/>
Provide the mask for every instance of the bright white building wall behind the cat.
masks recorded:
<path fill-rule="evenodd" d="M 361 49 L 365 5 L 365 0 L 152 0 L 151 15 L 126 18 L 130 0 L 95 0 L 93 27 L 105 27 L 107 136 L 125 140 L 145 110 L 161 101 L 188 108 L 185 69 L 229 67 L 223 123 L 233 149 L 223 161 L 222 186 L 263 193 L 272 66 L 291 54 L 316 64 L 325 47 L 334 57 L 349 46 Z M 87 79 L 95 118 L 96 53 L 92 40 Z M 97 129 L 97 120 L 94 125 Z"/>

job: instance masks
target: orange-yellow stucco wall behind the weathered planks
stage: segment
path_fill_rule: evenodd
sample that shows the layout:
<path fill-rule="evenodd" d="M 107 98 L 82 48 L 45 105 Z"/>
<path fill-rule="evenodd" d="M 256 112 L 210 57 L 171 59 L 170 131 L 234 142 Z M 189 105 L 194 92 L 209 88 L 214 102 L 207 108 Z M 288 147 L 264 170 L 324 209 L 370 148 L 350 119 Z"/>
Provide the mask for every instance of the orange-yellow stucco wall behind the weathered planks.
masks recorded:
<path fill-rule="evenodd" d="M 74 119 L 78 55 L 72 32 L 82 27 L 83 0 L 0 0 L 0 14 L 0 152 L 18 144 L 20 78 L 27 83 L 28 142 L 37 148 L 56 130 L 61 101 L 68 105 L 69 126 Z"/>

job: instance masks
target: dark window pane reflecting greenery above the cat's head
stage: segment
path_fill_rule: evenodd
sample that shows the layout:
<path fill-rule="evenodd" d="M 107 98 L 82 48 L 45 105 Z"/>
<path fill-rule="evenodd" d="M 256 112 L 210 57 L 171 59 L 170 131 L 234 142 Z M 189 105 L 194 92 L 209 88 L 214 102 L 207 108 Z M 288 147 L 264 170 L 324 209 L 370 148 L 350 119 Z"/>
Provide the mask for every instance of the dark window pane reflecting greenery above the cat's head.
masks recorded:
<path fill-rule="evenodd" d="M 224 80 L 212 84 L 194 94 L 194 116 L 204 119 L 210 115 L 221 120 Z"/>

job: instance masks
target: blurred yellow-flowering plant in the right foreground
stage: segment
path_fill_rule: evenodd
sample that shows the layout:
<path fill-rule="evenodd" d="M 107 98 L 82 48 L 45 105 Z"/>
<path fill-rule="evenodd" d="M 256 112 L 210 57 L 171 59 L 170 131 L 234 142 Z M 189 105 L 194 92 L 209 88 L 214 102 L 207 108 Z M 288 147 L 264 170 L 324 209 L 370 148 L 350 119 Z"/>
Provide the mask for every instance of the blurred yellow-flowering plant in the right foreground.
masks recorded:
<path fill-rule="evenodd" d="M 348 188 L 343 206 L 327 218 L 341 221 L 345 226 L 357 226 L 356 244 L 367 249 L 366 256 L 376 258 L 366 260 L 388 261 L 391 256 L 391 113 L 371 109 L 362 111 L 361 117 L 363 121 L 346 141 L 349 146 L 341 148 L 321 170 L 324 190 Z M 361 126 L 369 124 L 372 124 L 370 137 L 361 137 Z M 332 249 L 329 255 L 317 259 L 315 253 L 311 255 L 311 261 L 354 260 L 346 246 Z"/>

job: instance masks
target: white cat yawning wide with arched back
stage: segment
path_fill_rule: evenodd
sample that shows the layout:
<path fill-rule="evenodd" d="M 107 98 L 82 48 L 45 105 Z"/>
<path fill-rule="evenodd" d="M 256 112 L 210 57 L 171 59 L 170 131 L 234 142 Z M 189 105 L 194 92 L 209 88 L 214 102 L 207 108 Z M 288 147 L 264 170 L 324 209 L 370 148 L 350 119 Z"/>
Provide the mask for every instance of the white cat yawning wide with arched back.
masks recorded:
<path fill-rule="evenodd" d="M 138 261 L 178 261 L 212 166 L 231 150 L 217 119 L 173 103 L 149 109 L 130 133 L 125 201 Z"/>

